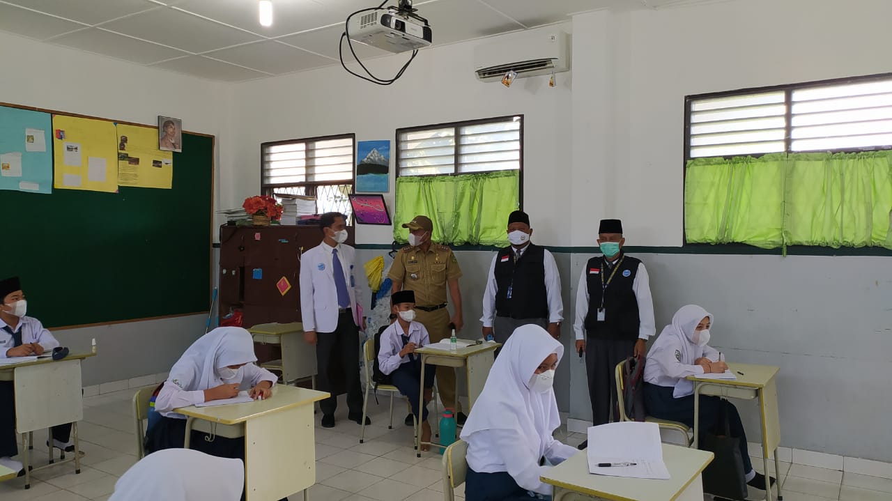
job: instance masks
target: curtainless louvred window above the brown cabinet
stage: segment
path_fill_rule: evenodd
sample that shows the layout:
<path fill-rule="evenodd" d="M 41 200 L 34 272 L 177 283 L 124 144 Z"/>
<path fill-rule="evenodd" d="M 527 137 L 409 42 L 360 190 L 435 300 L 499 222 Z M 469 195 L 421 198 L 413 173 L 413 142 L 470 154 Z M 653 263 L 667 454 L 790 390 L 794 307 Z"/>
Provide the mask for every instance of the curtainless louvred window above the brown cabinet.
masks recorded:
<path fill-rule="evenodd" d="M 349 135 L 260 144 L 261 191 L 315 197 L 318 213 L 341 212 L 349 222 L 355 142 Z"/>

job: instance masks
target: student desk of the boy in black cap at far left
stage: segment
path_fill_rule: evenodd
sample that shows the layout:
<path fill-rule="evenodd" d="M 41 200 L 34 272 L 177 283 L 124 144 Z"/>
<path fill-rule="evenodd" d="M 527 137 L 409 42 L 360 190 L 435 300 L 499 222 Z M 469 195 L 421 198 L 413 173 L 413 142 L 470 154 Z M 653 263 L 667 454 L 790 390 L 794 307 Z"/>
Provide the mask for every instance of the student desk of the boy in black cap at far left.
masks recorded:
<path fill-rule="evenodd" d="M 0 365 L 0 381 L 12 381 L 15 389 L 15 431 L 21 433 L 21 463 L 25 467 L 25 489 L 31 488 L 32 471 L 37 472 L 54 463 L 54 452 L 50 446 L 50 464 L 29 469 L 31 464 L 29 450 L 34 447 L 34 444 L 29 443 L 31 431 L 72 423 L 74 454 L 60 463 L 73 461 L 74 472 L 80 473 L 78 421 L 84 419 L 80 362 L 94 356 L 95 352 L 69 355 L 59 361 L 45 357 L 18 364 Z M 52 444 L 52 439 L 50 443 Z"/>

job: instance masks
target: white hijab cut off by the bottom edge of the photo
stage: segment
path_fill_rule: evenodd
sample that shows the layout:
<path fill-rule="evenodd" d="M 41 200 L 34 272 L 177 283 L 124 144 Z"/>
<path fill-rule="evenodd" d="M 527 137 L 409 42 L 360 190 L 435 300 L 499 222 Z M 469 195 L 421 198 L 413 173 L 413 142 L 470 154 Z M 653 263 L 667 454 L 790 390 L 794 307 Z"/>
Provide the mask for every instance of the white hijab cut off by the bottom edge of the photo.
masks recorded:
<path fill-rule="evenodd" d="M 238 501 L 243 490 L 241 459 L 168 448 L 131 466 L 115 483 L 109 501 Z"/>

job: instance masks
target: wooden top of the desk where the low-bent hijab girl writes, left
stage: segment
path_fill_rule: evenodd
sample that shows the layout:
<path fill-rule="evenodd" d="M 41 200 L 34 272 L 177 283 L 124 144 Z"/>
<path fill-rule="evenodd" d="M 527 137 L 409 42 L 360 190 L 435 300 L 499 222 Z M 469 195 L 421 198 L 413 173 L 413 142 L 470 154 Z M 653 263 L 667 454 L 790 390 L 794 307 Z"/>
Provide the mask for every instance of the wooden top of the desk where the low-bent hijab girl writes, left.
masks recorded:
<path fill-rule="evenodd" d="M 325 391 L 296 388 L 286 384 L 273 387 L 273 396 L 266 400 L 255 400 L 246 404 L 232 404 L 218 407 L 181 407 L 174 412 L 210 421 L 211 423 L 244 423 L 252 417 L 274 413 L 280 410 L 304 406 L 328 398 Z"/>

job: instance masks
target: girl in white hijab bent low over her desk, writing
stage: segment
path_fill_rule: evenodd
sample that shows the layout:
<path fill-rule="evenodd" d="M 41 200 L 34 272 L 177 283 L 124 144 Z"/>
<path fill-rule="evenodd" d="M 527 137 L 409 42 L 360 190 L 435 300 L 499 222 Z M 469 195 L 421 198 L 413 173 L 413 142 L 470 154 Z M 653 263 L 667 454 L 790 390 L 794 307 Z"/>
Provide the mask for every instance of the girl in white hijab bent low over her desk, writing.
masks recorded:
<path fill-rule="evenodd" d="M 155 398 L 155 411 L 161 418 L 146 432 L 147 453 L 166 448 L 182 448 L 186 416 L 173 412 L 210 400 L 233 398 L 240 389 L 249 389 L 252 398 L 268 398 L 277 377 L 254 365 L 254 341 L 241 327 L 218 327 L 192 343 L 179 358 Z M 244 458 L 244 440 L 208 437 L 193 431 L 191 447 L 212 456 Z"/>

